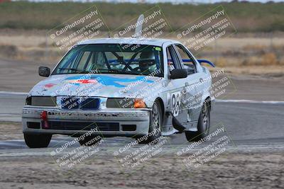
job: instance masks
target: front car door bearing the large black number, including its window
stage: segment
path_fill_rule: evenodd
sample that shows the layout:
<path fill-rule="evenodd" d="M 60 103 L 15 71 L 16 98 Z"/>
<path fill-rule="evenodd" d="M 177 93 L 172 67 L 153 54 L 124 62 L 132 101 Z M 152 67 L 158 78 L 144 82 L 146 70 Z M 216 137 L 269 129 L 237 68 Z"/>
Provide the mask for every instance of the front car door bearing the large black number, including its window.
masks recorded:
<path fill-rule="evenodd" d="M 167 58 L 168 58 L 168 71 L 173 69 L 181 69 L 180 58 L 178 52 L 175 50 L 173 45 L 167 47 Z M 187 122 L 187 110 L 182 105 L 182 101 L 188 98 L 188 94 L 185 88 L 186 78 L 182 79 L 170 79 L 171 90 L 170 90 L 170 103 L 173 116 L 180 122 Z M 186 125 L 185 125 L 186 126 Z"/>

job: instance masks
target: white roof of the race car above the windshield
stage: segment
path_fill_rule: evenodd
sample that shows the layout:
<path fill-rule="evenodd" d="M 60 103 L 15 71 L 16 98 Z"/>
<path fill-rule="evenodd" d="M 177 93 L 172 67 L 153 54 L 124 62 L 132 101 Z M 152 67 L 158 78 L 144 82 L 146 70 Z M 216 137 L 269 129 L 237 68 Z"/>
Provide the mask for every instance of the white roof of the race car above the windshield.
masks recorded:
<path fill-rule="evenodd" d="M 163 43 L 180 43 L 177 40 L 170 39 L 158 39 L 158 38 L 99 38 L 92 40 L 84 40 L 78 42 L 77 45 L 89 45 L 89 44 L 139 44 L 139 45 L 155 45 L 162 46 Z"/>

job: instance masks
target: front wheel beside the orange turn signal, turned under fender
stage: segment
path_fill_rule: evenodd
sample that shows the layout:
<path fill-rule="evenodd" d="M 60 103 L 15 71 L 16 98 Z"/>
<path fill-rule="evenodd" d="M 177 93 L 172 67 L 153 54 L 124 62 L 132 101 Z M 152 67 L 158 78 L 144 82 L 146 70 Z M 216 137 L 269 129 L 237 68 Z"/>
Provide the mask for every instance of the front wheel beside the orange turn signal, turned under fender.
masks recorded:
<path fill-rule="evenodd" d="M 158 117 L 155 117 L 158 116 Z M 160 106 L 160 103 L 158 101 L 155 101 L 152 106 L 152 111 L 150 113 L 150 125 L 149 125 L 149 132 L 146 135 L 147 139 L 143 139 L 143 137 L 136 138 L 138 140 L 139 144 L 148 144 L 149 142 L 152 142 L 155 139 L 158 139 L 160 137 L 160 127 L 163 122 L 163 114 L 162 114 L 162 108 Z"/>

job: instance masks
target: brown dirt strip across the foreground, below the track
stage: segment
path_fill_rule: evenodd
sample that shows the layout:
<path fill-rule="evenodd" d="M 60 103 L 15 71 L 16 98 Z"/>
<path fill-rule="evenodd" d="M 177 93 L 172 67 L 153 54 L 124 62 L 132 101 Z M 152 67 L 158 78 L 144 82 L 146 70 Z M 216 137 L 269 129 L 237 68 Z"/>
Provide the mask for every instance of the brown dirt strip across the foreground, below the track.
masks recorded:
<path fill-rule="evenodd" d="M 174 156 L 129 169 L 117 159 L 97 157 L 71 171 L 51 157 L 10 157 L 1 158 L 0 188 L 283 188 L 283 170 L 283 151 L 225 153 L 196 169 Z"/>

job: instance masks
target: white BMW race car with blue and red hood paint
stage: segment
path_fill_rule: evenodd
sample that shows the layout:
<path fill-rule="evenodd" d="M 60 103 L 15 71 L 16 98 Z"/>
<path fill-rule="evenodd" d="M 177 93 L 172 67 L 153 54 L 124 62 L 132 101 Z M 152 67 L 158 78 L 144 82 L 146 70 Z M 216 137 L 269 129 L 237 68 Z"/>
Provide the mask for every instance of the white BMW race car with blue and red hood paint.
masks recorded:
<path fill-rule="evenodd" d="M 48 147 L 53 134 L 133 137 L 140 143 L 185 132 L 207 136 L 211 76 L 180 42 L 103 38 L 75 45 L 36 84 L 23 107 L 28 147 Z M 141 139 L 141 137 L 143 139 Z"/>

